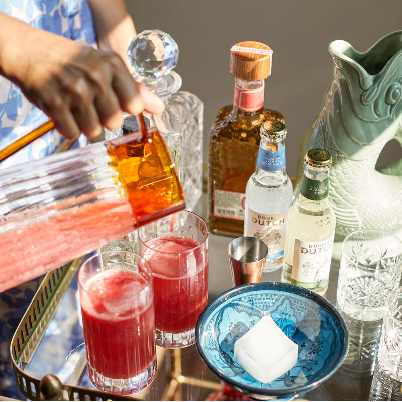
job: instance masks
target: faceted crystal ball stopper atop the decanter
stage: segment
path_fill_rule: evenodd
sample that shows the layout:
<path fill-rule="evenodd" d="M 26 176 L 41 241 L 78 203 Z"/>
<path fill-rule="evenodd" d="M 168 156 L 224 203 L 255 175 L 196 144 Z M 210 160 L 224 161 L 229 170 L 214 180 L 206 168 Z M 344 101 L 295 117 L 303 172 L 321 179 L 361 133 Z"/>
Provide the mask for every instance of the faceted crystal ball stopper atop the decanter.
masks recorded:
<path fill-rule="evenodd" d="M 176 66 L 179 48 L 166 32 L 146 30 L 131 41 L 128 57 L 136 74 L 158 79 Z"/>

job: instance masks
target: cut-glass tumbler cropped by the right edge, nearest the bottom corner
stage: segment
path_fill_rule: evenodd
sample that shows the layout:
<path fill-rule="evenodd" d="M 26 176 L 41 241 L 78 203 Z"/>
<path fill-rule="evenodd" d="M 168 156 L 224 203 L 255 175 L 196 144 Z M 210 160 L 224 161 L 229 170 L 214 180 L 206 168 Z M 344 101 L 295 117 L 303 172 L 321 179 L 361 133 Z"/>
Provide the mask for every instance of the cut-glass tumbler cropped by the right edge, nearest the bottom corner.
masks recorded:
<path fill-rule="evenodd" d="M 369 400 L 402 400 L 402 287 L 387 299 Z"/>

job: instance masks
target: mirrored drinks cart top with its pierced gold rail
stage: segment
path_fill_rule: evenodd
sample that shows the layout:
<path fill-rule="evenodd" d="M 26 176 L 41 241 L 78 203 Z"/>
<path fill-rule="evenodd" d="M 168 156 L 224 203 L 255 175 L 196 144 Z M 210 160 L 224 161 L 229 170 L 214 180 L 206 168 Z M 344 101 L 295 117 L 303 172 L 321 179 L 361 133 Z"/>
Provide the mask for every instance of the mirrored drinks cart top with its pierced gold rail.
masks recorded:
<path fill-rule="evenodd" d="M 227 246 L 232 238 L 210 235 L 209 300 L 232 287 Z M 17 330 L 12 353 L 18 361 L 17 384 L 30 399 L 39 400 L 39 380 L 55 374 L 70 400 L 214 400 L 222 383 L 192 345 L 157 348 L 158 370 L 152 384 L 140 393 L 122 397 L 98 391 L 86 372 L 86 359 L 77 290 L 81 259 L 52 271 Z M 333 259 L 326 297 L 335 303 L 339 261 Z M 279 281 L 280 270 L 264 273 L 262 281 Z M 43 305 L 43 306 L 42 306 Z M 31 328 L 32 326 L 32 328 Z M 19 350 L 20 349 L 20 350 Z M 341 367 L 330 379 L 306 393 L 307 400 L 367 400 L 371 375 L 356 375 Z M 215 399 L 216 400 L 216 399 Z M 245 399 L 246 400 L 246 399 Z"/>

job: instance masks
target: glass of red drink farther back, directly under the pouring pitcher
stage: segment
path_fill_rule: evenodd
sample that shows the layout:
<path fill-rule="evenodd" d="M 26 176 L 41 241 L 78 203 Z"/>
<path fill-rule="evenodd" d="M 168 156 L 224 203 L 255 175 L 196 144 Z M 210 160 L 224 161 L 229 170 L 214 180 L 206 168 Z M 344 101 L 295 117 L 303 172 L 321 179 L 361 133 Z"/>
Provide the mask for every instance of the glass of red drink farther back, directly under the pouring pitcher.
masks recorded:
<path fill-rule="evenodd" d="M 208 299 L 208 225 L 183 210 L 139 228 L 138 240 L 154 278 L 156 344 L 192 345 Z"/>

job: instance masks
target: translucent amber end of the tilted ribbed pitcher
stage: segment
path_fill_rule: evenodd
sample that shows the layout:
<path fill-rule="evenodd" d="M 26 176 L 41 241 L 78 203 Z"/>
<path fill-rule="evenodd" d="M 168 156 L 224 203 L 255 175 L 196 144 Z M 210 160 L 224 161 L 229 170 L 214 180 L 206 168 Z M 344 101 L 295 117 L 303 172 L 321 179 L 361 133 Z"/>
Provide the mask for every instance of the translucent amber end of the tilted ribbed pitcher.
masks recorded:
<path fill-rule="evenodd" d="M 139 135 L 130 142 L 110 141 L 108 154 L 119 173 L 115 180 L 130 200 L 136 228 L 185 207 L 174 163 L 155 127 L 148 129 L 147 139 Z"/>

